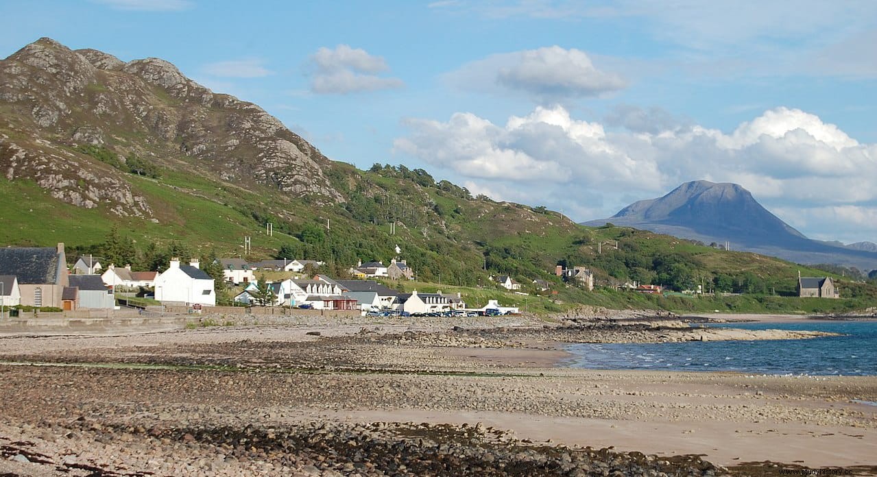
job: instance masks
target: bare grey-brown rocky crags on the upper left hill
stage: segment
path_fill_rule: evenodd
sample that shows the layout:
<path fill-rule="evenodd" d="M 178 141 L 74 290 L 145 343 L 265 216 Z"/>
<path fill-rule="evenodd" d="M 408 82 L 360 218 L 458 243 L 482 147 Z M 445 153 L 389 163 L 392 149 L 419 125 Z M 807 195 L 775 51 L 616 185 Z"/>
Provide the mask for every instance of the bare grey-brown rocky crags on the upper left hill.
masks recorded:
<path fill-rule="evenodd" d="M 129 61 L 39 39 L 0 61 L 0 170 L 32 179 L 65 202 L 106 204 L 149 216 L 125 174 L 75 152 L 105 146 L 163 167 L 235 184 L 344 198 L 324 174 L 330 161 L 253 103 L 216 94 L 168 61 Z"/>

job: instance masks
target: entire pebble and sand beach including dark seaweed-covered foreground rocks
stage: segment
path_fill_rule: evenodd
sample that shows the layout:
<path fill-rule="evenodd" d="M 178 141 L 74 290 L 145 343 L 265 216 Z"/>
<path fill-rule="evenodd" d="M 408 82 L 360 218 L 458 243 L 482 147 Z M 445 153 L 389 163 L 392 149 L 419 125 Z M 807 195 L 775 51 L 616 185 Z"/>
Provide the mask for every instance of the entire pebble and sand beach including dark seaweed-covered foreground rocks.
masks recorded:
<path fill-rule="evenodd" d="M 819 336 L 798 333 L 481 317 L 10 334 L 0 475 L 877 473 L 873 376 L 572 369 L 560 347 Z"/>

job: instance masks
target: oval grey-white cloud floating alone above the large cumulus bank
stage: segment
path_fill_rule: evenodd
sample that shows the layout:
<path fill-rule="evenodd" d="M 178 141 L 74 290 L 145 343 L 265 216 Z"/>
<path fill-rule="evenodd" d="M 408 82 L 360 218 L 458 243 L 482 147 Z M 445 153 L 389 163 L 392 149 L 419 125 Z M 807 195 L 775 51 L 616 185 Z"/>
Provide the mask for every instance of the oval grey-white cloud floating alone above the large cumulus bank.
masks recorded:
<path fill-rule="evenodd" d="M 494 54 L 467 63 L 446 78 L 460 89 L 492 91 L 499 87 L 541 103 L 600 96 L 626 86 L 621 76 L 596 68 L 588 53 L 560 46 Z"/>

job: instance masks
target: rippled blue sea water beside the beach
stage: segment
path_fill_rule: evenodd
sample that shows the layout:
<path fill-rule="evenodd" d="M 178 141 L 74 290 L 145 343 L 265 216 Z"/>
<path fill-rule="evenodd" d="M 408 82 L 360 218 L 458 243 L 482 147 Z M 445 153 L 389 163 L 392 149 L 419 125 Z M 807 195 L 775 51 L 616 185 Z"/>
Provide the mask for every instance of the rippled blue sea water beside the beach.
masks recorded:
<path fill-rule="evenodd" d="M 877 375 L 877 322 L 713 324 L 746 330 L 831 331 L 842 336 L 658 344 L 576 344 L 570 367 L 737 371 L 745 374 Z"/>

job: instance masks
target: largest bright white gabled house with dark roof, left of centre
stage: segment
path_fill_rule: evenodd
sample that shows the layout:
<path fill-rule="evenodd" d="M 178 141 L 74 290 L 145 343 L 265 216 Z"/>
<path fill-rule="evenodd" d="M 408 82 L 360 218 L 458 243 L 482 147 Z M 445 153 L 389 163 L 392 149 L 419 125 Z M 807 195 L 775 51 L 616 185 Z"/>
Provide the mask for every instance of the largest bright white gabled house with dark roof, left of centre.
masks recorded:
<path fill-rule="evenodd" d="M 170 260 L 170 267 L 155 277 L 155 299 L 162 303 L 185 303 L 216 306 L 213 279 L 198 267 L 198 261 L 180 265 L 180 259 Z"/>

